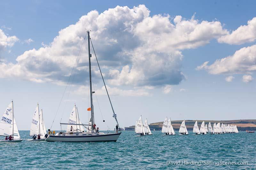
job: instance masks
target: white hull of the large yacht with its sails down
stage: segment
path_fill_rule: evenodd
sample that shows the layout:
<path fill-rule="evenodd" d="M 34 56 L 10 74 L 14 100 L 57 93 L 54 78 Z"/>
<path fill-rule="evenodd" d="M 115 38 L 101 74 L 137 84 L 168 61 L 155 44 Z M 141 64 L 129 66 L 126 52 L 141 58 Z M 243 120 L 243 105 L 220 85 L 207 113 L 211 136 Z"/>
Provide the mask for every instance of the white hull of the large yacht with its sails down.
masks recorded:
<path fill-rule="evenodd" d="M 45 141 L 48 142 L 101 142 L 101 141 L 117 141 L 120 133 L 111 133 L 111 134 L 56 134 L 49 135 Z"/>

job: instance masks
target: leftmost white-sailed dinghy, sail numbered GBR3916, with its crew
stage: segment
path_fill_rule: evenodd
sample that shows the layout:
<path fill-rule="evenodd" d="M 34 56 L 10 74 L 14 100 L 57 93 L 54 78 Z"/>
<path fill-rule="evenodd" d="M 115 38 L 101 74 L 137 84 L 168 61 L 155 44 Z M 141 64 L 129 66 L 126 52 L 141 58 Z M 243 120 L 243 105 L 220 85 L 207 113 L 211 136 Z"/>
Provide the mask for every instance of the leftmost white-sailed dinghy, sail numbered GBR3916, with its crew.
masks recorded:
<path fill-rule="evenodd" d="M 7 136 L 7 138 L 12 136 L 12 140 L 0 140 L 0 142 L 21 142 L 23 140 L 20 139 L 20 133 L 14 118 L 13 101 L 4 111 L 0 121 L 0 136 Z"/>

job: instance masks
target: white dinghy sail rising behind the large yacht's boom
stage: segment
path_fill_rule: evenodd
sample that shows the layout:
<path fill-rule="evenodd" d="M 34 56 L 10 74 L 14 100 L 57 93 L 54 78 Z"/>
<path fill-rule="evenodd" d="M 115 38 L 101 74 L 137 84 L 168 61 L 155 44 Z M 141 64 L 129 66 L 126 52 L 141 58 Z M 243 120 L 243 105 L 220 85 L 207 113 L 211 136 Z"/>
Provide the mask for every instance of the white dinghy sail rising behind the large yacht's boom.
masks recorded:
<path fill-rule="evenodd" d="M 72 132 L 80 132 L 80 131 L 82 132 L 82 131 L 84 131 L 83 126 L 76 125 L 76 124 L 82 124 L 82 122 L 79 120 L 79 117 L 78 117 L 78 113 L 77 113 L 77 110 L 76 110 L 76 105 L 73 107 L 73 109 L 70 113 L 68 123 L 70 123 L 70 124 L 67 125 L 67 129 L 66 129 L 67 133 L 70 132 L 71 126 L 73 128 Z M 71 125 L 71 124 L 74 124 L 74 125 Z"/>

